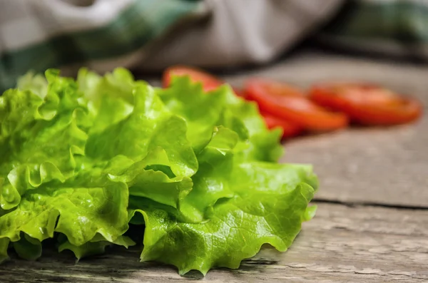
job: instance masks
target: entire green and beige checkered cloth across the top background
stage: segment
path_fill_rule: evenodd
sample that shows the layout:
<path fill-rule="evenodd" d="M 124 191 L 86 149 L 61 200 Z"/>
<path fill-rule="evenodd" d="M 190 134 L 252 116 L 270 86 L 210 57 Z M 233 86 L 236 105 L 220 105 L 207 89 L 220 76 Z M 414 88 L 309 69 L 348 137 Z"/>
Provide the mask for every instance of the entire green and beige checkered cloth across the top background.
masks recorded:
<path fill-rule="evenodd" d="M 29 70 L 265 63 L 307 36 L 428 58 L 428 1 L 0 0 L 0 93 Z M 317 28 L 325 26 L 318 31 Z"/>

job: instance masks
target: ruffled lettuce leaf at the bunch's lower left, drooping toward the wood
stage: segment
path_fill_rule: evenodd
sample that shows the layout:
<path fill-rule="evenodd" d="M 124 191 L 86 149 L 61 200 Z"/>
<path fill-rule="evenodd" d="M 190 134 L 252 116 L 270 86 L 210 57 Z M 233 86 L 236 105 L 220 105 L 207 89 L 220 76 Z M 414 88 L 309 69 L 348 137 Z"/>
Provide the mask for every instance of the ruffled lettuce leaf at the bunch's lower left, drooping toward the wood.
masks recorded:
<path fill-rule="evenodd" d="M 21 232 L 39 242 L 66 235 L 80 246 L 98 233 L 113 242 L 128 229 L 128 188 L 123 182 L 87 175 L 50 182 L 26 192 L 19 205 L 0 217 L 0 238 L 21 240 Z"/>

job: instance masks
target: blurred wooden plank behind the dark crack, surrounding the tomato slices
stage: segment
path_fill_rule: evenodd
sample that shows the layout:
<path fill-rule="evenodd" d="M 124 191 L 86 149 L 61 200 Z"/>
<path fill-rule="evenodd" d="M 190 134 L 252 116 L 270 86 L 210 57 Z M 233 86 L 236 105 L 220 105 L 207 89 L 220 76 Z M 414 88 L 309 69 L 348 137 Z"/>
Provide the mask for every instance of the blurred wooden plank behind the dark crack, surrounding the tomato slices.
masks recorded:
<path fill-rule="evenodd" d="M 233 86 L 242 86 L 250 76 L 302 88 L 319 81 L 372 81 L 417 96 L 428 106 L 426 66 L 302 53 L 267 68 L 224 78 Z M 282 161 L 314 165 L 321 182 L 318 199 L 428 207 L 428 115 L 416 125 L 298 138 L 286 143 L 286 149 Z"/>

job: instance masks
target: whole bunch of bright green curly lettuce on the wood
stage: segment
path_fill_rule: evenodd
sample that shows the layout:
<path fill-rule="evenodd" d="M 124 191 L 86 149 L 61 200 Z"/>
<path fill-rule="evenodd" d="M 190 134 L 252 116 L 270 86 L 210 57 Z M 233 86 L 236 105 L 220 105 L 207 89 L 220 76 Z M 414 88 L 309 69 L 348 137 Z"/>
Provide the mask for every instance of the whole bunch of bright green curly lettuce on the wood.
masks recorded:
<path fill-rule="evenodd" d="M 0 96 L 0 262 L 8 249 L 37 259 L 48 238 L 80 259 L 142 236 L 141 260 L 180 274 L 285 251 L 317 178 L 277 163 L 280 134 L 229 86 L 28 73 Z"/>

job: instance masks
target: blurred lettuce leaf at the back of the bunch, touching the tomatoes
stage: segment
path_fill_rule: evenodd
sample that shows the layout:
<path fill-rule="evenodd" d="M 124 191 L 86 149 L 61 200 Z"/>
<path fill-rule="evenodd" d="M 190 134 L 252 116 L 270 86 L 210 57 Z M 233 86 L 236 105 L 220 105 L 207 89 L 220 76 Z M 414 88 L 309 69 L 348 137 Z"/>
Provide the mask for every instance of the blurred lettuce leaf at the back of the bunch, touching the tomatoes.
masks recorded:
<path fill-rule="evenodd" d="M 156 93 L 168 109 L 185 118 L 196 152 L 209 142 L 213 128 L 223 125 L 243 142 L 243 159 L 277 161 L 282 155 L 280 130 L 268 130 L 255 103 L 235 96 L 230 86 L 204 93 L 200 83 L 178 76 L 173 77 L 170 88 L 158 88 Z"/>

